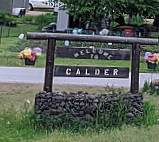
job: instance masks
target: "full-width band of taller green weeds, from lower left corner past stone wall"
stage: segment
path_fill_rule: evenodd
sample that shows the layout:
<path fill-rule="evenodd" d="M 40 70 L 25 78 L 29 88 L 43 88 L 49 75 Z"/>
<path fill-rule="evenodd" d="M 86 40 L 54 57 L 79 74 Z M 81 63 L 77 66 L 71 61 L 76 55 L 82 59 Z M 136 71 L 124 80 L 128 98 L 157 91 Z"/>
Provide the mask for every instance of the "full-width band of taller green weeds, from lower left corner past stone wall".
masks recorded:
<path fill-rule="evenodd" d="M 119 111 L 115 118 L 112 109 L 110 112 L 104 112 L 105 115 L 98 113 L 96 119 L 91 122 L 70 121 L 67 116 L 61 116 L 58 121 L 50 123 L 45 118 L 38 119 L 34 114 L 34 110 L 17 113 L 12 107 L 0 114 L 0 141 L 40 139 L 53 131 L 76 134 L 100 133 L 102 130 L 121 129 L 123 125 L 148 127 L 158 123 L 159 116 L 156 114 L 155 106 L 151 102 L 144 102 L 142 117 L 129 122 L 123 116 L 123 110 L 126 108 L 122 105 L 122 102 L 116 109 Z"/>

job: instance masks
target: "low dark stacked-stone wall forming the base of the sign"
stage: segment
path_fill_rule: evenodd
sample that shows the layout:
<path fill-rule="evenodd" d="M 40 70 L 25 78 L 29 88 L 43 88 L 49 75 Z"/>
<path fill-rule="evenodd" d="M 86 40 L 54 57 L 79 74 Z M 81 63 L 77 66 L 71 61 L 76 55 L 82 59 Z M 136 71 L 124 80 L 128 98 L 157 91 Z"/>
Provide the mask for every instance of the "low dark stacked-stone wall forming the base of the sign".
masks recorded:
<path fill-rule="evenodd" d="M 131 94 L 88 94 L 77 93 L 46 93 L 40 92 L 35 97 L 35 113 L 39 118 L 57 120 L 61 115 L 67 115 L 73 120 L 93 120 L 97 112 L 114 114 L 123 105 L 123 113 L 127 119 L 134 119 L 143 114 L 142 93 Z M 115 117 L 115 115 L 114 115 Z"/>

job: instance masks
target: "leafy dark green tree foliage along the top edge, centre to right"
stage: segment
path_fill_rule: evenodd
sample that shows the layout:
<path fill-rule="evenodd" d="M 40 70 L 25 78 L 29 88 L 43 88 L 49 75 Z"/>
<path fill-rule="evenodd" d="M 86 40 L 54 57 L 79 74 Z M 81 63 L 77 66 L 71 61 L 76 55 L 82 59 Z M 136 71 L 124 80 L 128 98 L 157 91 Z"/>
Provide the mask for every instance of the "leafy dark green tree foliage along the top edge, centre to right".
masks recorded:
<path fill-rule="evenodd" d="M 159 0 L 61 0 L 65 3 L 63 8 L 68 9 L 68 14 L 74 20 L 79 18 L 81 22 L 93 20 L 100 28 L 100 23 L 108 14 L 114 18 L 123 14 L 131 17 L 137 14 L 145 17 L 154 17 L 158 14 Z"/>

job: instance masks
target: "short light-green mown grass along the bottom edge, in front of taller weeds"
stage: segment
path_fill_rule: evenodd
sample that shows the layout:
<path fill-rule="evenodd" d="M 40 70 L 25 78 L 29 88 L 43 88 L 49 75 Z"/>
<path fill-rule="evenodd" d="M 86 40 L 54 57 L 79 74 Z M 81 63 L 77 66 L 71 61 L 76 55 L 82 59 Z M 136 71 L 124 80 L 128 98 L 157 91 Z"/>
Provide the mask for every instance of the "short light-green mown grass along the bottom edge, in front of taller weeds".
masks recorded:
<path fill-rule="evenodd" d="M 54 131 L 38 142 L 158 142 L 158 129 L 158 125 L 151 128 L 123 126 L 121 129 L 101 130 L 99 134 L 92 132 L 83 135 Z"/>

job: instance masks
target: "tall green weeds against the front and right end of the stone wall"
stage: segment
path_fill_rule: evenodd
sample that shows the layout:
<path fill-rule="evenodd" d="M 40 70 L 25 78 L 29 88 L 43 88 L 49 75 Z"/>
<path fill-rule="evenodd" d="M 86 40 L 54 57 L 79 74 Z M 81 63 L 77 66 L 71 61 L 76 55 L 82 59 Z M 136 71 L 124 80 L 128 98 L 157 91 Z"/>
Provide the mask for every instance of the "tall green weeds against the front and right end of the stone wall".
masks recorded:
<path fill-rule="evenodd" d="M 52 121 L 52 123 L 43 119 L 44 128 L 49 128 L 53 130 L 58 130 L 62 132 L 80 133 L 85 132 L 97 132 L 101 130 L 111 130 L 111 129 L 121 129 L 123 125 L 135 126 L 135 127 L 149 127 L 158 123 L 159 115 L 156 114 L 155 105 L 151 104 L 149 101 L 144 102 L 144 113 L 142 116 L 137 117 L 134 120 L 127 120 L 124 116 L 124 111 L 126 106 L 123 103 L 119 103 L 117 108 L 118 114 L 113 114 L 113 109 L 110 112 L 104 112 L 105 115 L 97 113 L 95 120 L 88 121 L 72 121 L 69 120 L 66 115 L 61 116 L 57 121 Z M 115 112 L 115 111 L 114 111 Z M 47 122 L 47 123 L 46 123 Z M 52 126 L 52 128 L 50 128 Z"/>

